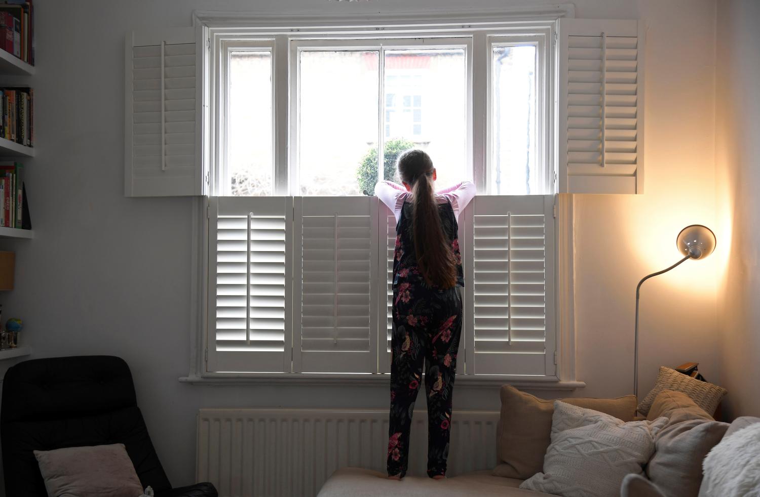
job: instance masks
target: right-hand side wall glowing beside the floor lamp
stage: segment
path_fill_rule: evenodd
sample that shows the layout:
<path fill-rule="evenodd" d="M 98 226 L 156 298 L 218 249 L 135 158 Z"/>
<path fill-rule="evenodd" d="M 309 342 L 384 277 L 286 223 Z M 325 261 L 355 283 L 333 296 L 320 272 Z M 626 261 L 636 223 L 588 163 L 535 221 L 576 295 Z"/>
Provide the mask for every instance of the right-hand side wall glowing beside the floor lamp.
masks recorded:
<path fill-rule="evenodd" d="M 720 377 L 728 414 L 758 416 L 760 397 L 760 2 L 717 2 L 716 172 L 729 256 L 718 300 Z"/>

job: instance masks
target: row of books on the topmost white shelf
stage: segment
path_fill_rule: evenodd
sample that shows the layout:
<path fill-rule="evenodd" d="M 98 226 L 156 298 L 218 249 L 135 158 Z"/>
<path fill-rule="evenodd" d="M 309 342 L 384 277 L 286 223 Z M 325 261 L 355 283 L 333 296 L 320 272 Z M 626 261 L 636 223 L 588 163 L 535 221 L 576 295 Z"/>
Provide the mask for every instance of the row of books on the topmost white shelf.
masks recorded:
<path fill-rule="evenodd" d="M 34 8 L 31 0 L 0 3 L 0 49 L 34 64 Z"/>

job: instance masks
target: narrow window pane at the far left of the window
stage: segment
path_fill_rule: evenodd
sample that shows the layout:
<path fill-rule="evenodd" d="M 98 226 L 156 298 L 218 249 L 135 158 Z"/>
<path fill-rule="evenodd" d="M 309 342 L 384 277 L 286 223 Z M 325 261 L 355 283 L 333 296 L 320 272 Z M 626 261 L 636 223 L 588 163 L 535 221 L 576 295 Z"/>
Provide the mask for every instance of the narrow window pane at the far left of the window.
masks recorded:
<path fill-rule="evenodd" d="M 273 193 L 271 61 L 268 50 L 230 52 L 226 181 L 233 195 Z"/>

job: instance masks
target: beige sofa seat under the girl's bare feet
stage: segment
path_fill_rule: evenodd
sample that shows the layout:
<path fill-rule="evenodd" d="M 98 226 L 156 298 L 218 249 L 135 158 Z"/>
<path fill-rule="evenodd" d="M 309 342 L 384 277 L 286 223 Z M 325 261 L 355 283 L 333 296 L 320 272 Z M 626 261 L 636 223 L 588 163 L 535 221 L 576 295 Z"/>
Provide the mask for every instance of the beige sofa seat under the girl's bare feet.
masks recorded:
<path fill-rule="evenodd" d="M 490 470 L 475 471 L 445 480 L 428 477 L 404 477 L 388 480 L 384 473 L 344 467 L 335 471 L 322 486 L 317 497 L 537 497 L 536 492 L 518 488 L 521 480 L 494 477 Z"/>

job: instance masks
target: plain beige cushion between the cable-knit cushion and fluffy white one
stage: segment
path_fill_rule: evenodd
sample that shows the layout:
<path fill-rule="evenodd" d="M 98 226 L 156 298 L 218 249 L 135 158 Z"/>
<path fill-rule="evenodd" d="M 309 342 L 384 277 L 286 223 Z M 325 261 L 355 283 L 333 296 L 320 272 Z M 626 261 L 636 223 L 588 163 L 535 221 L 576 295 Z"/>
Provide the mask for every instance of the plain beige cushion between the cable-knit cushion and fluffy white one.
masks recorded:
<path fill-rule="evenodd" d="M 702 460 L 727 429 L 728 423 L 704 419 L 671 423 L 657 434 L 656 451 L 647 465 L 649 480 L 667 497 L 697 497 Z"/>

